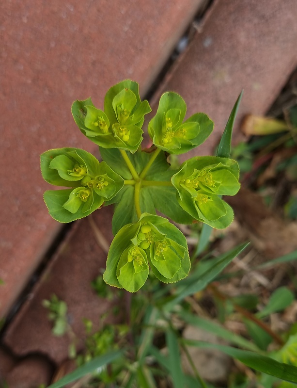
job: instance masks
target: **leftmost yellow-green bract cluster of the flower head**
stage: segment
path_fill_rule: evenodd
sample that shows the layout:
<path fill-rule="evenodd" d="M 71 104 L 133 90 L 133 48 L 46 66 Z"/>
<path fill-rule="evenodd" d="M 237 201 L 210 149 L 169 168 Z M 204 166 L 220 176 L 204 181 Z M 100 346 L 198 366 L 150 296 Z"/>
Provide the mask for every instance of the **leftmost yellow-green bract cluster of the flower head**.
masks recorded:
<path fill-rule="evenodd" d="M 108 164 L 78 148 L 57 148 L 41 155 L 41 172 L 50 184 L 72 187 L 48 190 L 44 198 L 50 215 L 70 222 L 85 217 L 113 198 L 124 179 Z"/>

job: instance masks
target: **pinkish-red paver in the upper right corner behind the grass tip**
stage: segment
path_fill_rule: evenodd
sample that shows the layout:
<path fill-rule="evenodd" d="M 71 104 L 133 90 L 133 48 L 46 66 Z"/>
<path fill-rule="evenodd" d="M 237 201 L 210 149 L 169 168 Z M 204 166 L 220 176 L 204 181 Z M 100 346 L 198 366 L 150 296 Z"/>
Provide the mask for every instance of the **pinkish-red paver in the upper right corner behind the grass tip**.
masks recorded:
<path fill-rule="evenodd" d="M 210 139 L 190 155 L 213 151 L 242 89 L 237 129 L 245 114 L 266 113 L 297 66 L 296 20 L 295 0 L 217 1 L 160 88 L 180 93 L 188 116 L 205 112 L 215 122 Z"/>

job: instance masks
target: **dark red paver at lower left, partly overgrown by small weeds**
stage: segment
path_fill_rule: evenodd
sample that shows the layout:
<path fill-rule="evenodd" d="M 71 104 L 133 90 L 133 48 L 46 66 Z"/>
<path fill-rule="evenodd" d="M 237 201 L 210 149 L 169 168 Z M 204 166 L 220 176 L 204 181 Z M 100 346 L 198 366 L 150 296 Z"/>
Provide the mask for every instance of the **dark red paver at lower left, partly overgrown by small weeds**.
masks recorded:
<path fill-rule="evenodd" d="M 112 240 L 111 207 L 95 211 L 91 217 L 97 227 L 101 227 L 107 247 Z M 91 287 L 91 282 L 105 269 L 107 255 L 96 239 L 96 232 L 90 218 L 76 223 L 59 252 L 50 263 L 39 284 L 32 291 L 31 298 L 23 306 L 14 322 L 9 326 L 5 343 L 20 356 L 42 353 L 57 363 L 68 357 L 68 346 L 72 336 L 54 337 L 52 323 L 48 321 L 43 299 L 56 294 L 67 304 L 67 317 L 76 335 L 77 350 L 81 350 L 86 337 L 83 318 L 94 323 L 94 329 L 102 327 L 102 316 L 112 312 L 112 305 L 119 304 L 114 298 L 99 298 Z M 102 273 L 101 272 L 101 273 Z M 114 291 L 116 289 L 113 289 Z M 121 302 L 122 303 L 122 302 Z M 112 319 L 109 317 L 109 321 Z M 113 318 L 115 322 L 116 318 Z"/>

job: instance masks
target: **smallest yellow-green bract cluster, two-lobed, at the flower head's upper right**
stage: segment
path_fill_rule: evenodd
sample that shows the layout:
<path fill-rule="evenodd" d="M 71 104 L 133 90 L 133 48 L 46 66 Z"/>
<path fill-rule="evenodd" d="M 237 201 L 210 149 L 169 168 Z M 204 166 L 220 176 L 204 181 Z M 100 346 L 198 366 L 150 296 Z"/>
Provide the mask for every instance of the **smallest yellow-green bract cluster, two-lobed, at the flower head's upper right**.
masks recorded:
<path fill-rule="evenodd" d="M 204 113 L 193 114 L 184 121 L 186 103 L 173 92 L 162 95 L 156 116 L 150 121 L 148 132 L 153 143 L 171 154 L 183 154 L 202 144 L 214 124 Z"/>

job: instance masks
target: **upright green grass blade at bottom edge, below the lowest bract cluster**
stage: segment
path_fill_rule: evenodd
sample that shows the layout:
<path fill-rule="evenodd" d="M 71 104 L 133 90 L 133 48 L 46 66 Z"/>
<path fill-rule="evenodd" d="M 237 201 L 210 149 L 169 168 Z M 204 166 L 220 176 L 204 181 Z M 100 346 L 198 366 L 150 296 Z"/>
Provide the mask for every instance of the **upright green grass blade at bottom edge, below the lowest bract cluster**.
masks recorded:
<path fill-rule="evenodd" d="M 182 363 L 178 346 L 178 339 L 171 328 L 166 330 L 166 344 L 169 354 L 169 370 L 172 378 L 173 387 L 184 387 L 184 373 L 182 371 Z"/>

